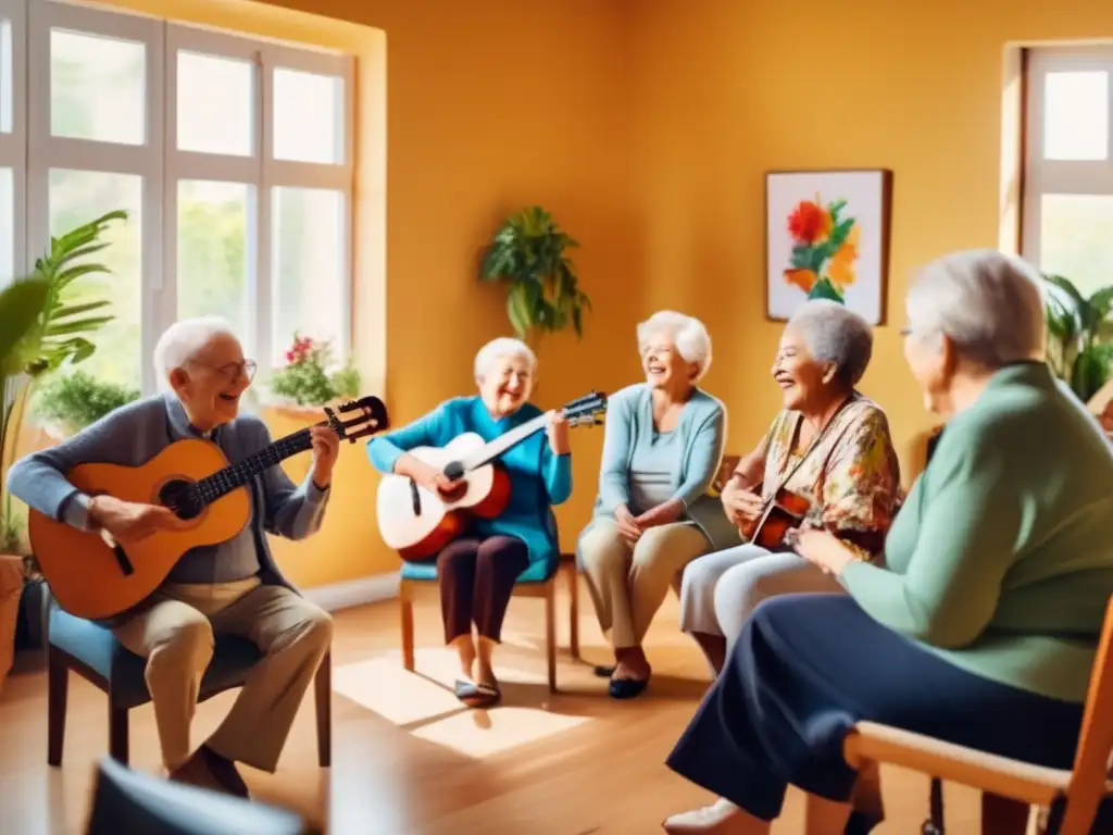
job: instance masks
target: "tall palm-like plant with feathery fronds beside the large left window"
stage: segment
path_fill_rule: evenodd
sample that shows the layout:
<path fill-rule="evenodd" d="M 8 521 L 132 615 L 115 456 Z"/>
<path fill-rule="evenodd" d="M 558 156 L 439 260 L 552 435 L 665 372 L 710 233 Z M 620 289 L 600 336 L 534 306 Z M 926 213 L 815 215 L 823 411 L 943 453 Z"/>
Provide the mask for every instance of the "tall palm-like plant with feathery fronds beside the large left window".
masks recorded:
<path fill-rule="evenodd" d="M 99 313 L 111 302 L 107 298 L 82 298 L 83 287 L 78 284 L 83 276 L 109 273 L 108 267 L 88 261 L 108 244 L 100 235 L 112 220 L 124 220 L 127 213 L 110 212 L 82 224 L 61 237 L 52 237 L 47 250 L 35 261 L 29 282 L 43 293 L 42 304 L 36 312 L 31 326 L 19 341 L 19 351 L 12 354 L 3 369 L 3 421 L 0 423 L 0 546 L 14 550 L 19 547 L 21 529 L 7 491 L 8 470 L 14 462 L 19 448 L 19 433 L 23 425 L 28 400 L 36 383 L 57 371 L 63 363 L 80 363 L 92 356 L 96 346 L 88 338 L 112 321 Z M 16 286 L 18 286 L 17 283 Z M 24 291 L 26 292 L 26 291 Z"/>

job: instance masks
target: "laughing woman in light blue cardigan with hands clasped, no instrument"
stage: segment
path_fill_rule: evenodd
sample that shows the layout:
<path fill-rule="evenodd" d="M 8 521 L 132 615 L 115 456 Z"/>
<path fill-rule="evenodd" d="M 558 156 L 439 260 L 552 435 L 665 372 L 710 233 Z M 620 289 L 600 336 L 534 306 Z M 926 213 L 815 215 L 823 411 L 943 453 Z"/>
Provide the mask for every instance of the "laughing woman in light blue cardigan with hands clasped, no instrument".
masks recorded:
<path fill-rule="evenodd" d="M 691 316 L 662 311 L 638 326 L 646 382 L 612 395 L 591 523 L 577 554 L 595 613 L 610 631 L 610 694 L 631 698 L 650 677 L 641 641 L 678 573 L 700 554 L 739 543 L 708 495 L 722 460 L 727 413 L 697 382 L 711 340 Z"/>

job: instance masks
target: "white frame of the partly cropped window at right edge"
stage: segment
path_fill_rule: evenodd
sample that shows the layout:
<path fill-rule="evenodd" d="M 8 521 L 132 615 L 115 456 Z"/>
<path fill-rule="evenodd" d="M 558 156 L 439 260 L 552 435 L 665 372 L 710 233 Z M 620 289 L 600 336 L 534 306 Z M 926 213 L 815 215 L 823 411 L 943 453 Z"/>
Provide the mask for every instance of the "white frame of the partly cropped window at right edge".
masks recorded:
<path fill-rule="evenodd" d="M 1105 159 L 1044 159 L 1045 79 L 1052 72 L 1109 73 L 1109 147 Z M 1024 187 L 1021 254 L 1041 263 L 1041 207 L 1045 194 L 1113 195 L 1113 47 L 1033 48 L 1025 70 Z"/>

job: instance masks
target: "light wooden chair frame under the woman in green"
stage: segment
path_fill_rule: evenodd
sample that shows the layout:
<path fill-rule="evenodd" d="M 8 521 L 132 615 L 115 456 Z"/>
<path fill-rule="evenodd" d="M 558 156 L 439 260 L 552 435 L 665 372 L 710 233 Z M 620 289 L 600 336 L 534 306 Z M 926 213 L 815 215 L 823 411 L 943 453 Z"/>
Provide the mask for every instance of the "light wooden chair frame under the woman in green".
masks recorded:
<path fill-rule="evenodd" d="M 844 753 L 847 763 L 858 769 L 892 763 L 938 780 L 979 788 L 984 793 L 983 819 L 985 800 L 996 796 L 1028 806 L 1055 807 L 1048 833 L 1087 835 L 1103 796 L 1113 792 L 1107 777 L 1113 753 L 1113 598 L 1105 611 L 1072 769 L 1034 766 L 870 721 L 858 723 L 847 735 Z"/>

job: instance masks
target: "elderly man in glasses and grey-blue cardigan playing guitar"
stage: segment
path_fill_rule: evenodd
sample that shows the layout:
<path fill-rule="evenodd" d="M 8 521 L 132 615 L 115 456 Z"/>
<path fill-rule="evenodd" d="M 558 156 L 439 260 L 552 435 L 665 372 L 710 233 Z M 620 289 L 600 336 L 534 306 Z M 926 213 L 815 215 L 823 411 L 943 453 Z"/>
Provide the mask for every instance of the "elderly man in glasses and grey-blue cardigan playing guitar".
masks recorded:
<path fill-rule="evenodd" d="M 73 468 L 90 462 L 138 468 L 181 439 L 208 439 L 233 463 L 270 444 L 262 421 L 238 415 L 255 363 L 244 360 L 220 320 L 173 325 L 156 347 L 155 364 L 169 391 L 128 404 L 11 469 L 9 488 L 30 505 L 32 517 L 38 512 L 78 530 L 106 532 L 125 551 L 138 548 L 189 522 L 168 507 L 89 495 L 67 478 Z M 339 439 L 327 425 L 309 434 L 305 446 L 312 445 L 313 463 L 301 485 L 278 466 L 260 472 L 245 484 L 248 523 L 238 533 L 189 548 L 154 593 L 106 619 L 125 647 L 147 658 L 147 685 L 171 779 L 246 797 L 235 763 L 274 772 L 328 649 L 329 616 L 282 583 L 265 537 L 269 531 L 301 539 L 321 527 Z M 250 639 L 263 659 L 220 727 L 190 752 L 189 725 L 215 635 Z"/>

